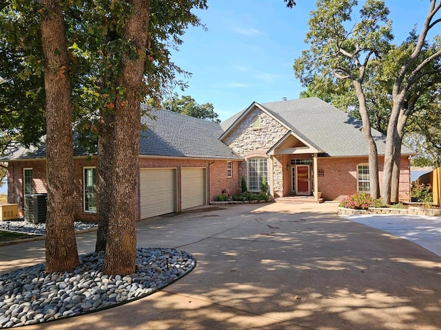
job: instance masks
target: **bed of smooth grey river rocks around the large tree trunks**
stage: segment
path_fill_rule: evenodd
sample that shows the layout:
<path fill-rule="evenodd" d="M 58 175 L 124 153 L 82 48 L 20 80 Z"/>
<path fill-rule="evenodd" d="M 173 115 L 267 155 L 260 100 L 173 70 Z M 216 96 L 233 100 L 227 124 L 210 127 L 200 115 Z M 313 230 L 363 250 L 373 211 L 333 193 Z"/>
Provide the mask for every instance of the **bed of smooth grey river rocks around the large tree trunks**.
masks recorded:
<path fill-rule="evenodd" d="M 46 274 L 45 263 L 0 276 L 0 327 L 20 327 L 68 318 L 128 303 L 170 285 L 196 265 L 187 252 L 136 249 L 130 275 L 102 274 L 104 254 L 79 256 L 72 272 Z"/>

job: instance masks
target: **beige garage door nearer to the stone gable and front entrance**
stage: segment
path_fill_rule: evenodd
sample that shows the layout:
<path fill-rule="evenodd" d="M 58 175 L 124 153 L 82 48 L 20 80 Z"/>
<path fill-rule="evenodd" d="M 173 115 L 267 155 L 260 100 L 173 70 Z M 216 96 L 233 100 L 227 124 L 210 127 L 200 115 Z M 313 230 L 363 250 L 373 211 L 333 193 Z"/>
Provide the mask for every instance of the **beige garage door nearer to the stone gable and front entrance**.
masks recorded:
<path fill-rule="evenodd" d="M 205 168 L 182 168 L 181 208 L 205 205 Z"/>

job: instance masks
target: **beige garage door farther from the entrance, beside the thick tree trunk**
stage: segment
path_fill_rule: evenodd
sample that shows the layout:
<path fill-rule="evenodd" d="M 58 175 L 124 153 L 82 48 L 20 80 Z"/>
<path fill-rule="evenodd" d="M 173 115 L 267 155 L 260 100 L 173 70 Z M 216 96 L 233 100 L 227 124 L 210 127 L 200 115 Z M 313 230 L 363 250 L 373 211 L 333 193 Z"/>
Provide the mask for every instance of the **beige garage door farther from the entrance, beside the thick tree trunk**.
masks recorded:
<path fill-rule="evenodd" d="M 176 212 L 176 169 L 143 168 L 139 177 L 141 219 Z"/>

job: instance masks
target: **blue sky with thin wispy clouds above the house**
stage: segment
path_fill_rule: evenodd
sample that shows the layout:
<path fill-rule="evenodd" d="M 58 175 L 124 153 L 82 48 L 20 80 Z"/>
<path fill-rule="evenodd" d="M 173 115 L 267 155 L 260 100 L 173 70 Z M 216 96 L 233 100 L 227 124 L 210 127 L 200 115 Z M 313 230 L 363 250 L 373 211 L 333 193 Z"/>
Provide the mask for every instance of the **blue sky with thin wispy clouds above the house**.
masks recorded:
<path fill-rule="evenodd" d="M 189 87 L 178 94 L 212 103 L 221 120 L 253 101 L 298 98 L 303 88 L 292 65 L 307 49 L 303 41 L 316 1 L 296 3 L 289 9 L 283 0 L 208 0 L 208 10 L 196 12 L 208 30 L 190 28 L 174 52 L 174 62 L 192 72 Z M 420 26 L 429 10 L 428 0 L 386 3 L 397 42 Z"/>

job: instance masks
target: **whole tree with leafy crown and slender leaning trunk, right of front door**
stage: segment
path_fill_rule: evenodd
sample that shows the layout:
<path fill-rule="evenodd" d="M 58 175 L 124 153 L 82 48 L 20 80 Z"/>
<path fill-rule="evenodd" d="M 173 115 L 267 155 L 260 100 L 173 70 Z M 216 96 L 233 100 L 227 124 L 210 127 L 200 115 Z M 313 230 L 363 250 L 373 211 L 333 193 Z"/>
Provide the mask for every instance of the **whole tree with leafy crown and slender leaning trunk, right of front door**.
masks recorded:
<path fill-rule="evenodd" d="M 392 39 L 389 10 L 382 1 L 368 0 L 360 9 L 360 21 L 352 22 L 356 0 L 318 0 L 311 12 L 305 42 L 309 50 L 294 63 L 296 77 L 309 85 L 314 77 L 349 80 L 358 100 L 362 134 L 369 151 L 371 196 L 380 196 L 378 151 L 371 135 L 371 119 L 364 84 L 371 63 L 389 50 Z M 349 27 L 349 28 L 348 28 Z"/>

